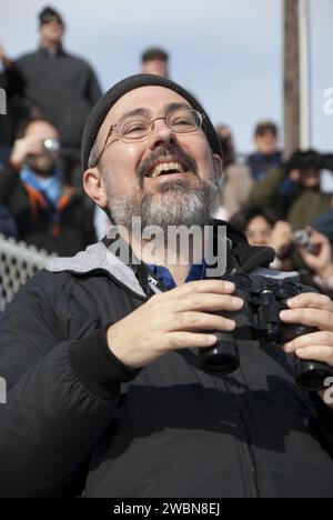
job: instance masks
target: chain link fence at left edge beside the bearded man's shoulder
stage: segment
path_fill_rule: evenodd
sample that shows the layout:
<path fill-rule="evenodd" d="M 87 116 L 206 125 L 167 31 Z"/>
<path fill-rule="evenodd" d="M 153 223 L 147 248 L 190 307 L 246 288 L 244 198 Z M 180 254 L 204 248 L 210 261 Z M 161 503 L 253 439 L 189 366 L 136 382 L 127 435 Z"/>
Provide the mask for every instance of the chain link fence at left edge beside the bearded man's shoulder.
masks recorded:
<path fill-rule="evenodd" d="M 0 234 L 0 312 L 3 312 L 21 286 L 43 269 L 51 257 L 46 251 Z"/>

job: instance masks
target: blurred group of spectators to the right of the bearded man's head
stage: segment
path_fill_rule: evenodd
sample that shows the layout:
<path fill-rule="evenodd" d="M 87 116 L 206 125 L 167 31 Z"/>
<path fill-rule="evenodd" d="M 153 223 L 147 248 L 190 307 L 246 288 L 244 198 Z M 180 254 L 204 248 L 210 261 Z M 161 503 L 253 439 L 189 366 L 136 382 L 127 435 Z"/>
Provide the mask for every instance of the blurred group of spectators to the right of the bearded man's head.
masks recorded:
<path fill-rule="evenodd" d="M 256 151 L 238 158 L 230 128 L 216 131 L 225 166 L 222 217 L 252 246 L 272 247 L 273 268 L 297 271 L 304 283 L 332 296 L 333 183 L 324 190 L 322 177 L 333 173 L 333 154 L 297 150 L 284 160 L 278 128 L 266 121 L 255 128 Z"/>

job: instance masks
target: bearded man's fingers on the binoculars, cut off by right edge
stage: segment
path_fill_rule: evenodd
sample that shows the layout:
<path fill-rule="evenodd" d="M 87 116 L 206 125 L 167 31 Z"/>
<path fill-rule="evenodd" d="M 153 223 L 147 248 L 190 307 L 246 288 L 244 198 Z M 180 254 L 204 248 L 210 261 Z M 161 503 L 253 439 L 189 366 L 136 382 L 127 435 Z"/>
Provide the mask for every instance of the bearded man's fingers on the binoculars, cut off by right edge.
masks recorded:
<path fill-rule="evenodd" d="M 326 296 L 306 293 L 290 300 L 289 307 L 291 310 L 281 312 L 282 321 L 316 327 L 319 332 L 294 339 L 284 346 L 284 351 L 303 360 L 321 361 L 333 367 L 332 300 Z M 322 399 L 323 394 L 320 392 Z"/>

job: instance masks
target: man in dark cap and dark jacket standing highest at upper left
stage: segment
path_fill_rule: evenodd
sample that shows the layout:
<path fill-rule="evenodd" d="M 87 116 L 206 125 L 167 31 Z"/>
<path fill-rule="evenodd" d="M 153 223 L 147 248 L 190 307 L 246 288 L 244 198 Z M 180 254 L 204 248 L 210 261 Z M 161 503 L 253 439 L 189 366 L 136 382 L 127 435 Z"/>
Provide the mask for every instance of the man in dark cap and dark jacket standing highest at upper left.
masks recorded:
<path fill-rule="evenodd" d="M 101 96 L 92 68 L 63 50 L 64 22 L 54 9 L 39 14 L 40 48 L 14 62 L 0 51 L 9 97 L 21 99 L 18 117 L 46 117 L 60 130 L 69 166 L 75 162 L 87 116 Z M 67 152 L 65 152 L 67 149 Z"/>

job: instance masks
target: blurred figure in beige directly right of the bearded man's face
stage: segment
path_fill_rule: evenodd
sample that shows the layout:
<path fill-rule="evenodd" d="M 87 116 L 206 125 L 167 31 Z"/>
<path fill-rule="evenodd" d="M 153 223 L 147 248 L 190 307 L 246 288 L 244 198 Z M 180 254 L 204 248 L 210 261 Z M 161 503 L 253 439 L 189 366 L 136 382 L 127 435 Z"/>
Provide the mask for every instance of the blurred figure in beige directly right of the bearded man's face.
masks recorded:
<path fill-rule="evenodd" d="M 224 219 L 233 217 L 249 202 L 253 180 L 248 166 L 239 163 L 234 138 L 230 127 L 215 127 L 223 150 L 224 183 L 220 194 L 220 207 Z"/>

